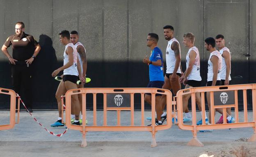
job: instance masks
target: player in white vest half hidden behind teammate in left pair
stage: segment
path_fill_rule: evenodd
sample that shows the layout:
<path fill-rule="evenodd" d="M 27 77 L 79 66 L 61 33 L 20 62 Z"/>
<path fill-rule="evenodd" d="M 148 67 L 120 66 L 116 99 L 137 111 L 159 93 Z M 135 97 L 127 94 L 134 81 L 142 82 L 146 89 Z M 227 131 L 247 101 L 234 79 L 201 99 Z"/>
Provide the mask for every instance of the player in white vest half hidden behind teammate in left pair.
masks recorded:
<path fill-rule="evenodd" d="M 70 32 L 70 41 L 74 44 L 76 50 L 78 51 L 78 59 L 81 66 L 82 71 L 82 77 L 86 80 L 86 71 L 87 71 L 87 59 L 86 59 L 86 50 L 85 47 L 81 44 L 81 42 L 78 42 L 79 35 L 77 31 L 71 31 Z M 84 84 L 79 84 L 78 88 L 84 88 Z M 78 94 L 78 100 L 80 103 L 80 109 L 82 108 L 82 95 Z M 81 111 L 82 113 L 82 111 Z M 73 116 L 73 113 L 71 113 Z M 73 119 L 71 119 L 71 122 Z M 82 124 L 82 117 L 80 119 L 80 124 Z"/>

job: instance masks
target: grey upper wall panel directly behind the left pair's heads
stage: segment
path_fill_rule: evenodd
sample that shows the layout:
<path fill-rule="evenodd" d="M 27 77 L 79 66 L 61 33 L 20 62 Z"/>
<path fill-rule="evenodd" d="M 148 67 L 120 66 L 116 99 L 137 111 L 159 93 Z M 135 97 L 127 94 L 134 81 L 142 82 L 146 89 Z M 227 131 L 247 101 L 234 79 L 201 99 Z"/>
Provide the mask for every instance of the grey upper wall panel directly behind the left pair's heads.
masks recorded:
<path fill-rule="evenodd" d="M 59 42 L 58 33 L 62 30 L 78 29 L 78 0 L 53 1 L 53 47 L 59 61 L 63 60 L 65 46 Z"/>

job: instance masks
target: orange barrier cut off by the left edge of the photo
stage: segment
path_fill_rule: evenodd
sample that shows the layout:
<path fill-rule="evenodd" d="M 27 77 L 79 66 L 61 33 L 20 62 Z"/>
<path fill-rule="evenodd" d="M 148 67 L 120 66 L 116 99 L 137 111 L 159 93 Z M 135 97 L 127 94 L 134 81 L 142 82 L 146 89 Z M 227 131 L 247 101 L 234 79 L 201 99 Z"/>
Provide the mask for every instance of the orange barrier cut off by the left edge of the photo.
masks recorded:
<path fill-rule="evenodd" d="M 14 128 L 15 124 L 19 123 L 19 113 L 20 113 L 20 101 L 18 100 L 18 119 L 15 122 L 15 111 L 16 111 L 16 94 L 13 90 L 0 88 L 0 94 L 10 95 L 10 124 L 0 125 L 0 130 L 9 130 Z"/>

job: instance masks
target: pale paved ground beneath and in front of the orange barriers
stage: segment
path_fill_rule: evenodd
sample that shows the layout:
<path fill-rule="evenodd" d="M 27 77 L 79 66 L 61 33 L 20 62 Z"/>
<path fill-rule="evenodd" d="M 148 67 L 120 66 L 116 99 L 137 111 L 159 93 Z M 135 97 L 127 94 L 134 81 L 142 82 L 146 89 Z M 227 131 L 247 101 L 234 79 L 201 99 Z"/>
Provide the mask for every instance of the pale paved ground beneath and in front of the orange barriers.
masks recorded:
<path fill-rule="evenodd" d="M 139 111 L 135 112 L 135 125 L 140 122 L 139 113 Z M 145 117 L 150 114 L 150 112 L 146 112 Z M 199 117 L 200 113 L 197 114 Z M 243 118 L 242 114 L 243 112 L 239 113 L 241 120 Z M 64 127 L 50 127 L 50 124 L 57 119 L 57 111 L 34 111 L 33 115 L 46 128 L 56 134 L 65 130 Z M 97 115 L 97 124 L 101 125 L 103 121 L 102 111 L 97 111 Z M 113 119 L 116 118 L 115 112 L 108 112 L 107 117 L 109 125 L 116 124 L 115 121 L 113 122 Z M 216 117 L 219 117 L 219 115 L 217 114 Z M 92 111 L 87 111 L 88 125 L 92 124 L 91 118 Z M 248 118 L 252 118 L 251 112 L 249 112 Z M 0 111 L 0 125 L 8 124 L 8 120 L 9 111 Z M 122 112 L 121 124 L 128 125 L 129 123 L 130 112 Z M 145 121 L 145 124 L 150 124 L 150 122 Z M 187 130 L 180 130 L 178 126 L 173 125 L 168 130 L 156 133 L 158 146 L 155 148 L 150 147 L 150 132 L 88 132 L 88 146 L 81 148 L 82 134 L 79 131 L 68 130 L 63 137 L 55 137 L 41 128 L 28 113 L 22 111 L 20 124 L 16 124 L 11 130 L 0 131 L 0 157 L 70 157 L 75 155 L 86 157 L 198 157 L 204 153 L 228 157 L 240 153 L 242 150 L 248 151 L 247 157 L 250 155 L 255 157 L 256 143 L 241 142 L 252 134 L 252 128 L 198 133 L 198 138 L 204 144 L 204 147 L 191 147 L 186 146 L 186 144 L 192 138 L 192 133 Z M 242 137 L 243 139 L 241 139 Z M 235 141 L 237 139 L 240 140 Z"/>

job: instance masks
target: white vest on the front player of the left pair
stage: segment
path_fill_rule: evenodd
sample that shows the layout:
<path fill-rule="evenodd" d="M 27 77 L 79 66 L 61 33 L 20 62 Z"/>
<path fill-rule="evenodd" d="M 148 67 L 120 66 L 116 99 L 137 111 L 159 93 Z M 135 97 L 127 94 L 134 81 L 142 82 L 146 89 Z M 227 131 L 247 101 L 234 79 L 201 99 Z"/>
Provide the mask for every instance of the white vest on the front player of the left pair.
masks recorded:
<path fill-rule="evenodd" d="M 64 59 L 63 65 L 65 65 L 65 64 L 67 64 L 69 62 L 69 55 L 66 54 L 66 49 L 69 46 L 73 48 L 73 58 L 74 58 L 74 61 L 73 61 L 73 65 L 72 66 L 70 66 L 67 69 L 64 69 L 63 74 L 64 75 L 75 75 L 75 76 L 78 76 L 78 70 L 77 70 L 77 51 L 75 49 L 74 44 L 72 44 L 72 43 L 69 43 L 69 44 L 67 44 L 65 46 L 65 51 L 64 51 L 64 55 L 63 55 L 63 59 Z"/>

